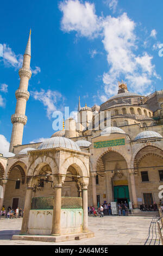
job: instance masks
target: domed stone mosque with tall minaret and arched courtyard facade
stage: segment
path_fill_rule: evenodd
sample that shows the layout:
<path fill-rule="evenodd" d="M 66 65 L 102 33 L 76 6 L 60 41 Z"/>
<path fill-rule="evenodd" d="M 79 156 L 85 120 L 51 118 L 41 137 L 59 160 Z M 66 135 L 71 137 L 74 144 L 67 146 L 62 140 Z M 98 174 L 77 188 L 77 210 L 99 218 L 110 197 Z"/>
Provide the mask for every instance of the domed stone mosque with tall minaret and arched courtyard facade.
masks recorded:
<path fill-rule="evenodd" d="M 11 115 L 8 154 L 0 155 L 0 208 L 30 210 L 33 197 L 81 197 L 84 209 L 99 203 L 159 203 L 163 185 L 163 91 L 142 96 L 119 82 L 117 95 L 101 106 L 78 106 L 78 120 L 40 143 L 22 145 L 29 99 L 30 35 L 18 71 L 16 110 Z M 110 111 L 110 126 L 101 130 L 99 113 Z M 90 128 L 91 127 L 91 128 Z M 56 188 L 54 190 L 54 187 Z M 55 191 L 55 193 L 54 193 Z M 54 196 L 54 198 L 55 198 Z M 26 229 L 26 227 L 24 227 Z M 55 230 L 56 233 L 56 230 Z"/>

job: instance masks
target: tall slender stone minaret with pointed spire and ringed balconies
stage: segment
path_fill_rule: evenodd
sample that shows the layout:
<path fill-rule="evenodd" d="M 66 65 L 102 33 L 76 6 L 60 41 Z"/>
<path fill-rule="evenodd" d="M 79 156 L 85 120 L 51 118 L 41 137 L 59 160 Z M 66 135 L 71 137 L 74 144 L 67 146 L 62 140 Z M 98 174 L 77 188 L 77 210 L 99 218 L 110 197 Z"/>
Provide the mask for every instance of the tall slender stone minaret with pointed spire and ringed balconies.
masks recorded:
<path fill-rule="evenodd" d="M 24 125 L 27 123 L 26 113 L 26 102 L 29 99 L 29 92 L 28 92 L 28 81 L 32 76 L 32 72 L 30 71 L 30 58 L 31 58 L 31 46 L 30 46 L 30 34 L 29 39 L 26 47 L 26 51 L 23 57 L 23 66 L 18 71 L 20 76 L 20 86 L 18 90 L 15 92 L 16 96 L 16 109 L 15 114 L 11 115 L 11 123 L 13 124 L 12 127 L 12 135 L 10 141 L 10 149 L 9 151 L 12 152 L 14 146 L 22 144 L 23 138 L 23 129 Z"/>

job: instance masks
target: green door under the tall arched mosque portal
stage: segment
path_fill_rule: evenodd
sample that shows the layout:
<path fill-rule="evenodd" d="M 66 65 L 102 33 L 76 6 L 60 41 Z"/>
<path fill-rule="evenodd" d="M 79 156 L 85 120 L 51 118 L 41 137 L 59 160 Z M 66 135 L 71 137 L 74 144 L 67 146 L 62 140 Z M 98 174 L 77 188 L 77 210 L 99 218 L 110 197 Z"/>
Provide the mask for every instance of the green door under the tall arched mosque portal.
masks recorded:
<path fill-rule="evenodd" d="M 117 203 L 127 201 L 129 203 L 129 190 L 128 186 L 114 186 L 114 200 Z"/>

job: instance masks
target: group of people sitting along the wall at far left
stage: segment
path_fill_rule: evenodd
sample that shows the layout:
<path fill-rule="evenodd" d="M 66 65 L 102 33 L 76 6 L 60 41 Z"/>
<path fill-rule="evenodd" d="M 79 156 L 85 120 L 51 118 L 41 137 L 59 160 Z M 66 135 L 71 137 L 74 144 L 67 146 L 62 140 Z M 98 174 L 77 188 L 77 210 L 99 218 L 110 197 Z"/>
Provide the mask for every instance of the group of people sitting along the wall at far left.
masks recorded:
<path fill-rule="evenodd" d="M 11 208 L 11 206 L 8 206 L 7 211 L 5 210 L 5 207 L 3 205 L 2 210 L 0 211 L 0 218 L 5 217 L 5 218 L 21 218 L 23 217 L 23 210 L 18 207 L 14 210 Z"/>

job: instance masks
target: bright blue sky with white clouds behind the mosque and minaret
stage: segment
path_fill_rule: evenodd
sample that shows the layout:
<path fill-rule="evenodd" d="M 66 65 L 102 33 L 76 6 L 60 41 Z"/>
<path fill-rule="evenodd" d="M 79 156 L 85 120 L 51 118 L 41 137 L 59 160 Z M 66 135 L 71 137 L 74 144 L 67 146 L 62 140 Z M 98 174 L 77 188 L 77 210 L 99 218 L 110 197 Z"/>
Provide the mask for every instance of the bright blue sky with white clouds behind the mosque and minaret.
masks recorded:
<path fill-rule="evenodd" d="M 118 81 L 147 95 L 162 89 L 161 0 L 8 1 L 1 3 L 0 139 L 10 141 L 18 69 L 32 28 L 33 76 L 29 81 L 23 144 L 48 138 L 52 113 L 100 105 Z M 3 150 L 3 147 L 2 149 Z"/>

